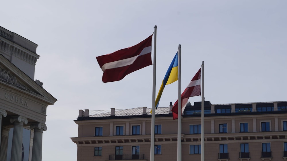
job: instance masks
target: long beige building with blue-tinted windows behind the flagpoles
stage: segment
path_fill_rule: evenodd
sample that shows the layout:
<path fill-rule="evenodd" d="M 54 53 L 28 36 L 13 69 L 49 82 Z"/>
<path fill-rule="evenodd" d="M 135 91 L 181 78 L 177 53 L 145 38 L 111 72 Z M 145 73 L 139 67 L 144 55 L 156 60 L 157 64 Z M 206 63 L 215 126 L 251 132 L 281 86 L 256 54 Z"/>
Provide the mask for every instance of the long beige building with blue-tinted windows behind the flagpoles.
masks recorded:
<path fill-rule="evenodd" d="M 172 104 L 172 103 L 170 103 Z M 156 109 L 154 160 L 177 160 L 177 120 L 170 107 Z M 287 101 L 204 105 L 205 161 L 287 158 Z M 151 114 L 147 107 L 79 110 L 77 161 L 150 160 Z M 201 102 L 185 108 L 183 161 L 201 158 Z"/>

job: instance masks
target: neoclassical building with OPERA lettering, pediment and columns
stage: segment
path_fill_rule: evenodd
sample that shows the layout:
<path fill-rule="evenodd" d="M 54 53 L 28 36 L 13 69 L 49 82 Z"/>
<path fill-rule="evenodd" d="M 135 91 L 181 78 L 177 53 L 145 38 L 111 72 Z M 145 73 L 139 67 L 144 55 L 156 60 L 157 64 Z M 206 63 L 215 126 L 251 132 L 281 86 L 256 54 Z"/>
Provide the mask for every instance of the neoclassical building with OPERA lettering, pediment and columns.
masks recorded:
<path fill-rule="evenodd" d="M 42 160 L 46 108 L 57 99 L 34 80 L 37 46 L 0 26 L 0 161 Z"/>

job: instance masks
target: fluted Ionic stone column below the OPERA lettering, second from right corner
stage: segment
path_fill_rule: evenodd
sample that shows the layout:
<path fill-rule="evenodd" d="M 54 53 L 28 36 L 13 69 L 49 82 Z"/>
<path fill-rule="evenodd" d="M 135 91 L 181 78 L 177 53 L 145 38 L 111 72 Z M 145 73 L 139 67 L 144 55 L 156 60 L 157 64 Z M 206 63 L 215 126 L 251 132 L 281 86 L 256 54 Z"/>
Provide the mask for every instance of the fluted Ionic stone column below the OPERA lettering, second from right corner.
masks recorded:
<path fill-rule="evenodd" d="M 22 116 L 15 116 L 10 119 L 14 124 L 13 140 L 11 149 L 11 161 L 22 160 L 22 143 L 23 143 L 23 125 L 27 124 L 28 120 Z"/>

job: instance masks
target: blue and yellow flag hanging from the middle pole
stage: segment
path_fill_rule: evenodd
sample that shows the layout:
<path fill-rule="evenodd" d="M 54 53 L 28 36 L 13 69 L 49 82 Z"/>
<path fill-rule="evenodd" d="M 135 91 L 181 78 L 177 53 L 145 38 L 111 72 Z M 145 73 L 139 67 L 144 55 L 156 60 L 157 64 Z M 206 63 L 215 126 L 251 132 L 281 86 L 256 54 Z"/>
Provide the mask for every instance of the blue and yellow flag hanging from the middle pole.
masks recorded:
<path fill-rule="evenodd" d="M 163 89 L 165 85 L 171 84 L 178 80 L 178 52 L 175 54 L 165 76 L 162 80 L 162 85 L 160 86 L 160 91 L 158 91 L 158 96 L 156 97 L 156 107 L 158 107 L 158 103 L 160 102 L 160 97 L 162 95 Z"/>

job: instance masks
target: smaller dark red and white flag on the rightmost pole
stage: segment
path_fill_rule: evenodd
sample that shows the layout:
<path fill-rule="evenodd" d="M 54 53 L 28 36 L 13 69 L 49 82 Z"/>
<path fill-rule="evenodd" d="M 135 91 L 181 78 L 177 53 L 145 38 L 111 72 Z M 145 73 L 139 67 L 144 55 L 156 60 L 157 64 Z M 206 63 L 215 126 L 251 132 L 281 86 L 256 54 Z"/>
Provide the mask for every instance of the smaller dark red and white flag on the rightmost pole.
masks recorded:
<path fill-rule="evenodd" d="M 187 104 L 187 101 L 189 97 L 193 96 L 200 96 L 200 73 L 201 68 L 198 70 L 198 72 L 195 74 L 195 76 L 191 79 L 186 89 L 181 94 L 181 114 L 183 113 L 185 106 Z M 173 119 L 177 119 L 178 117 L 178 100 L 174 103 L 172 107 L 172 116 Z"/>

